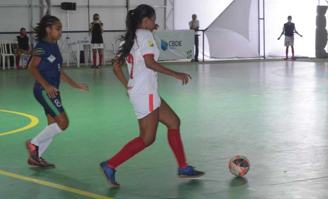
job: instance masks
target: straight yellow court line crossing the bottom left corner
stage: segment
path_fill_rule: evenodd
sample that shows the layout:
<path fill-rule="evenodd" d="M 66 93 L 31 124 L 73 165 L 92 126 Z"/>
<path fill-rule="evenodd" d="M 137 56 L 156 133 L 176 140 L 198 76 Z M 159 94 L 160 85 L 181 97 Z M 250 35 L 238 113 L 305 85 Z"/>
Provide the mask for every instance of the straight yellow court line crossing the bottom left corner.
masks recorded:
<path fill-rule="evenodd" d="M 13 177 L 13 178 L 18 178 L 18 179 L 21 179 L 21 180 L 26 180 L 26 181 L 33 182 L 33 183 L 37 183 L 37 184 L 40 184 L 40 185 L 45 185 L 45 186 L 56 188 L 56 189 L 62 189 L 62 190 L 65 190 L 65 191 L 69 191 L 69 192 L 84 195 L 84 196 L 89 196 L 91 198 L 114 199 L 114 198 L 110 198 L 110 197 L 90 193 L 90 192 L 87 192 L 87 191 L 82 191 L 82 190 L 79 190 L 79 189 L 73 189 L 73 188 L 70 188 L 70 187 L 63 186 L 63 185 L 58 185 L 58 184 L 55 184 L 55 183 L 51 183 L 51 182 L 47 182 L 47 181 L 43 181 L 43 180 L 38 180 L 38 179 L 35 179 L 35 178 L 30 178 L 30 177 L 26 177 L 26 176 L 23 176 L 23 175 L 18 175 L 18 174 L 15 174 L 15 173 L 10 173 L 10 172 L 3 171 L 3 170 L 0 170 L 0 174 L 7 175 L 7 176 L 10 176 L 10 177 Z"/>

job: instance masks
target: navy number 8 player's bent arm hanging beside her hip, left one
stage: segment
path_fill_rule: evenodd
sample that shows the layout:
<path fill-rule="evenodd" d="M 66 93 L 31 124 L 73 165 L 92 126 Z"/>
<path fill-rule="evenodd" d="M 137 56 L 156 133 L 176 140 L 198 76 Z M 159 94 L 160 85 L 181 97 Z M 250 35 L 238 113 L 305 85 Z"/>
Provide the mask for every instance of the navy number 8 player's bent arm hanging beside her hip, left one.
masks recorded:
<path fill-rule="evenodd" d="M 33 75 L 33 77 L 38 81 L 43 88 L 46 90 L 48 96 L 50 98 L 55 98 L 58 94 L 58 90 L 47 83 L 47 81 L 41 76 L 39 73 L 37 67 L 39 66 L 41 62 L 41 57 L 33 56 L 30 63 L 29 63 L 29 72 Z"/>

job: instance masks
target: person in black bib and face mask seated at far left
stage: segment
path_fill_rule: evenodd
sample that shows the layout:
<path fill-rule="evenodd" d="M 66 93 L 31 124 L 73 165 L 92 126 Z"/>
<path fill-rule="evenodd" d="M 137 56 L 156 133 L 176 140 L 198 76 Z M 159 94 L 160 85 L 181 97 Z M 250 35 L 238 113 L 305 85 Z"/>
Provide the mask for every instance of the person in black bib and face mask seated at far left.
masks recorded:
<path fill-rule="evenodd" d="M 17 69 L 23 69 L 19 65 L 19 60 L 22 54 L 31 55 L 31 45 L 29 42 L 29 37 L 26 35 L 26 29 L 21 28 L 20 34 L 15 38 L 15 48 L 16 48 L 16 67 Z"/>

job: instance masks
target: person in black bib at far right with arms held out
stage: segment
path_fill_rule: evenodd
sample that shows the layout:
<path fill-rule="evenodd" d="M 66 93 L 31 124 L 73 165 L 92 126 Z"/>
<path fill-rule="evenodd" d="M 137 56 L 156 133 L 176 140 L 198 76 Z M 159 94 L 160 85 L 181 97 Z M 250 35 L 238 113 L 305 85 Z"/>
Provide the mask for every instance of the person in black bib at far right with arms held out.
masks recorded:
<path fill-rule="evenodd" d="M 298 34 L 295 28 L 295 24 L 292 23 L 292 16 L 287 17 L 288 22 L 284 24 L 284 27 L 282 28 L 281 35 L 278 37 L 278 40 L 280 37 L 284 34 L 285 35 L 285 46 L 286 46 L 286 58 L 288 59 L 288 48 L 289 46 L 292 47 L 292 60 L 296 60 L 294 57 L 294 32 Z M 303 37 L 302 35 L 298 34 L 299 36 Z"/>

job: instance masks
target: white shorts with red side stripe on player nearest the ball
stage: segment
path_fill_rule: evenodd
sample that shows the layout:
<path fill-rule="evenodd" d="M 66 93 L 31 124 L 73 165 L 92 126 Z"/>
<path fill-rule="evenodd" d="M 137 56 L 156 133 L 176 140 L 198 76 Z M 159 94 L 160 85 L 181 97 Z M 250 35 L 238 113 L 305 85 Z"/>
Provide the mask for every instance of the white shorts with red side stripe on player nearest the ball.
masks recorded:
<path fill-rule="evenodd" d="M 134 113 L 137 119 L 141 119 L 157 109 L 161 105 L 161 98 L 158 93 L 149 95 L 133 95 L 129 96 L 133 105 Z"/>

